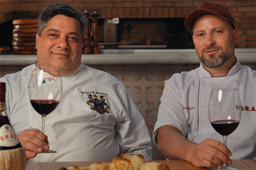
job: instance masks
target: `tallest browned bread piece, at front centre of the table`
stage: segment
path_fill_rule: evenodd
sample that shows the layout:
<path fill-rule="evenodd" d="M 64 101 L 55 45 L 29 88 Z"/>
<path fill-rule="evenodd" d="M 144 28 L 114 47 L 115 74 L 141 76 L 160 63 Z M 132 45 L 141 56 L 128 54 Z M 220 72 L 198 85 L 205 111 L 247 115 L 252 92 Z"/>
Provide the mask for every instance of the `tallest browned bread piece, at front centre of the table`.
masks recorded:
<path fill-rule="evenodd" d="M 139 170 L 146 160 L 142 155 L 118 154 L 112 159 L 110 170 Z"/>

